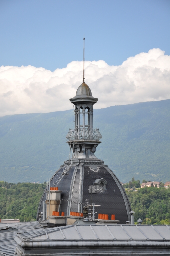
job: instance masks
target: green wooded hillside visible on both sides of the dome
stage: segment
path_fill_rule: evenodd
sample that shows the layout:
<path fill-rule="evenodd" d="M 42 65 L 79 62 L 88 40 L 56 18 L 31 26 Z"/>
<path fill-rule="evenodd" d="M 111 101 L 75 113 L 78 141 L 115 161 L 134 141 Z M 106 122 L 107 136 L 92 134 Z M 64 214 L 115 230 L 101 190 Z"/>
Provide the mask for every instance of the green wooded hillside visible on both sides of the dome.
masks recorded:
<path fill-rule="evenodd" d="M 0 218 L 35 220 L 45 185 L 0 181 Z M 141 218 L 143 224 L 170 224 L 170 188 L 145 187 L 127 195 L 135 222 Z"/>

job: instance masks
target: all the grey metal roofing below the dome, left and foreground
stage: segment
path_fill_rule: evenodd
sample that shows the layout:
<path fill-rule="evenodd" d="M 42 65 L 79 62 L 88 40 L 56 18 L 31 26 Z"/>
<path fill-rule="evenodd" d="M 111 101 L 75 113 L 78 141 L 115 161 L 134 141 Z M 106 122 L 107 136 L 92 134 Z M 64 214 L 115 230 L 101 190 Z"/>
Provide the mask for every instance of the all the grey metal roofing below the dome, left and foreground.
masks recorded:
<path fill-rule="evenodd" d="M 21 248 L 22 255 L 26 255 L 27 249 L 30 253 L 35 250 L 35 255 L 46 255 L 44 247 L 50 249 L 51 255 L 73 255 L 76 249 L 76 255 L 87 256 L 90 255 L 84 254 L 87 248 L 93 255 L 99 255 L 95 253 L 96 247 L 102 248 L 102 255 L 108 255 L 107 250 L 132 255 L 134 248 L 137 251 L 133 255 L 141 255 L 139 251 L 147 256 L 170 255 L 169 225 L 70 225 L 43 229 L 38 222 L 21 222 L 0 224 L 0 230 L 8 226 L 15 230 L 0 233 L 0 255 L 3 256 L 14 256 L 17 244 L 16 255 L 21 255 Z"/>

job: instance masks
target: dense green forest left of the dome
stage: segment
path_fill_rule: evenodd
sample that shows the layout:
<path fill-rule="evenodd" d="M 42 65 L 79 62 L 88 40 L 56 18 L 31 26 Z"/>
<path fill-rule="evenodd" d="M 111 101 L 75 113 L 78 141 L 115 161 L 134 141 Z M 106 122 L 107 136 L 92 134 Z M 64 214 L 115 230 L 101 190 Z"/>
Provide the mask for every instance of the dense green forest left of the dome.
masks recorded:
<path fill-rule="evenodd" d="M 0 181 L 0 219 L 35 220 L 45 186 Z"/>

